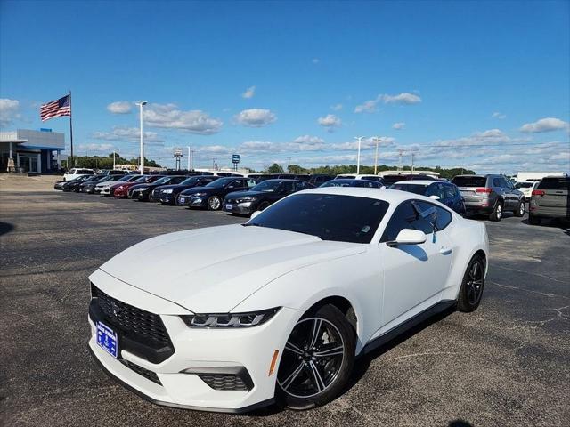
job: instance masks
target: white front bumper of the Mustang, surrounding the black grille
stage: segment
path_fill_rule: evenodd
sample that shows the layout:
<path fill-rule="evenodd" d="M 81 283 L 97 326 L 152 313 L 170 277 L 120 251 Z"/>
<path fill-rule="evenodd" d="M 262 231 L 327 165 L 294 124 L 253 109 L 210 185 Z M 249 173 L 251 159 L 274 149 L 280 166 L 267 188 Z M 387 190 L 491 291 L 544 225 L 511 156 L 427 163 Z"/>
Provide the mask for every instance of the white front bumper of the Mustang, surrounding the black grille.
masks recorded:
<path fill-rule="evenodd" d="M 102 270 L 97 270 L 91 280 L 94 286 L 121 302 L 141 310 L 154 307 L 154 312 L 167 313 L 160 314 L 160 318 L 175 351 L 159 363 L 121 350 L 120 333 L 119 359 L 113 358 L 97 344 L 94 319 L 89 317 L 89 349 L 103 369 L 129 390 L 160 405 L 209 411 L 247 412 L 273 402 L 277 369 L 269 375 L 269 367 L 275 350 L 279 350 L 281 358 L 289 331 L 300 316 L 297 310 L 284 307 L 267 323 L 250 328 L 191 328 L 179 317 L 190 311 L 172 302 L 126 285 Z M 204 372 L 212 374 L 241 368 L 251 380 L 248 390 L 217 390 L 200 376 Z"/>

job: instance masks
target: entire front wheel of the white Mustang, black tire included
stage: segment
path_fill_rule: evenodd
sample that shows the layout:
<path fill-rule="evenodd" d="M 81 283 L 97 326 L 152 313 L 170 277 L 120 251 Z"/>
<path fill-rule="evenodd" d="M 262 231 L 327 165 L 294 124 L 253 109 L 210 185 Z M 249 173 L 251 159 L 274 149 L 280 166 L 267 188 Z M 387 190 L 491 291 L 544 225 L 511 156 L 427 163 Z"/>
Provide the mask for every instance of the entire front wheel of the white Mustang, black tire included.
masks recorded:
<path fill-rule="evenodd" d="M 335 399 L 352 375 L 355 345 L 353 327 L 333 305 L 305 314 L 281 355 L 275 386 L 278 401 L 304 410 Z M 319 355 L 324 352 L 330 354 Z"/>

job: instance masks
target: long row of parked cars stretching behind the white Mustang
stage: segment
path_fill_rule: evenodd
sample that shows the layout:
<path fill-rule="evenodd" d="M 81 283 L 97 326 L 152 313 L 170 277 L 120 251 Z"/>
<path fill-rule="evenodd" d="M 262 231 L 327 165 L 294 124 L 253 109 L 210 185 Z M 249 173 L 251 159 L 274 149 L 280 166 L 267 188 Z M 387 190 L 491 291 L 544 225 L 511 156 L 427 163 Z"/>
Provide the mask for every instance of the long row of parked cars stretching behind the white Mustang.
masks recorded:
<path fill-rule="evenodd" d="M 82 170 L 77 169 L 76 174 Z M 71 171 L 70 171 L 71 172 Z M 428 175 L 395 175 L 379 177 L 365 174 L 292 175 L 252 173 L 202 174 L 124 174 L 123 171 L 105 171 L 89 175 L 79 174 L 71 181 L 56 182 L 54 189 L 102 196 L 131 198 L 179 205 L 224 210 L 232 214 L 250 215 L 263 211 L 277 200 L 297 191 L 319 187 L 354 187 L 398 189 L 430 197 L 461 215 L 484 214 L 491 221 L 501 221 L 504 212 L 515 216 L 525 214 L 525 200 L 530 199 L 529 222 L 540 223 L 546 217 L 568 217 L 568 178 L 549 177 L 530 185 L 515 185 L 500 174 L 458 175 L 452 181 L 437 180 Z M 229 175 L 229 176 L 226 176 Z M 517 188 L 518 187 L 518 188 Z M 530 195 L 527 196 L 530 189 Z"/>

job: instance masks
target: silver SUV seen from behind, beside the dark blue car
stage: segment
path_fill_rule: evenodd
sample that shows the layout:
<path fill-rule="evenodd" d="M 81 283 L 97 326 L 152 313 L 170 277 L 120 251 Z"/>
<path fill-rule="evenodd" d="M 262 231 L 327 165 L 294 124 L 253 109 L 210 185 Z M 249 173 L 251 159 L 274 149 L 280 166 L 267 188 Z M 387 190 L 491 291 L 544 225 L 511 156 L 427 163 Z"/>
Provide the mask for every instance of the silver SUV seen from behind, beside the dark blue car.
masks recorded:
<path fill-rule="evenodd" d="M 468 214 L 489 215 L 491 221 L 501 221 L 505 211 L 525 214 L 523 193 L 504 175 L 457 175 L 452 183 L 459 187 Z"/>

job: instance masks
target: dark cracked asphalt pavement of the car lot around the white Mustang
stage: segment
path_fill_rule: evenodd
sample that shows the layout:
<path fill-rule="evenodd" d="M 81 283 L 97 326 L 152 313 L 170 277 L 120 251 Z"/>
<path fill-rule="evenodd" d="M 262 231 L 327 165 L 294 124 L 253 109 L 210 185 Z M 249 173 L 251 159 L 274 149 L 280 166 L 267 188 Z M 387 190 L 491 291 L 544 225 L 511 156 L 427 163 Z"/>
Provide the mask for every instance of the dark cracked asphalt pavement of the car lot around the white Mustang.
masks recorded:
<path fill-rule="evenodd" d="M 145 238 L 224 213 L 0 186 L 0 425 L 570 425 L 570 230 L 485 220 L 483 302 L 356 363 L 325 407 L 225 415 L 159 407 L 91 360 L 87 276 Z"/>

